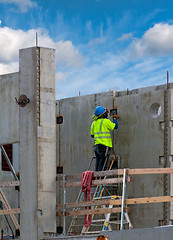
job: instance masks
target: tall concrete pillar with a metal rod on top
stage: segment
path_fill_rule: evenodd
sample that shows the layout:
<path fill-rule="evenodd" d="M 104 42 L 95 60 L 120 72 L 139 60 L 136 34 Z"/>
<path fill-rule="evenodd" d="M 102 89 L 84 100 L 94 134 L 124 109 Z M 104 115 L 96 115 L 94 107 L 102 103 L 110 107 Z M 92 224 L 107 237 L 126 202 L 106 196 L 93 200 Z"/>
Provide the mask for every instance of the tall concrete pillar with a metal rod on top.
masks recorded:
<path fill-rule="evenodd" d="M 55 51 L 19 52 L 21 239 L 36 240 L 56 232 Z"/>

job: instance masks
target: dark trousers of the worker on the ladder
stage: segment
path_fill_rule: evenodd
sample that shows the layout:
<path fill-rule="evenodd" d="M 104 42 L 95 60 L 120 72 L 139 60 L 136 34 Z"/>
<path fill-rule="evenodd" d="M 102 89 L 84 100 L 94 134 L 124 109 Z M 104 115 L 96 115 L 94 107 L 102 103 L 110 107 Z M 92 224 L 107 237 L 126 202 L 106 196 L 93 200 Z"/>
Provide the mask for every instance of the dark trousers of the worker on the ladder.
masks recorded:
<path fill-rule="evenodd" d="M 94 146 L 94 152 L 96 155 L 96 165 L 95 171 L 103 171 L 103 166 L 106 157 L 110 154 L 110 147 L 104 146 L 102 144 L 97 144 Z"/>

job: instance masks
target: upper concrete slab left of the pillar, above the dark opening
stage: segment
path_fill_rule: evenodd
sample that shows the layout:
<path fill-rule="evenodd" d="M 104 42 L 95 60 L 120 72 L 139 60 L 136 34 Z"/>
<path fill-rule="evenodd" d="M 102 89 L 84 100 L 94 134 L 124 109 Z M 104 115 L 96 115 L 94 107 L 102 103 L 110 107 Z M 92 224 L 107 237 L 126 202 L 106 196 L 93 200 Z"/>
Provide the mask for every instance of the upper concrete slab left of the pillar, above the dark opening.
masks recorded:
<path fill-rule="evenodd" d="M 0 76 L 0 144 L 19 141 L 19 73 Z"/>

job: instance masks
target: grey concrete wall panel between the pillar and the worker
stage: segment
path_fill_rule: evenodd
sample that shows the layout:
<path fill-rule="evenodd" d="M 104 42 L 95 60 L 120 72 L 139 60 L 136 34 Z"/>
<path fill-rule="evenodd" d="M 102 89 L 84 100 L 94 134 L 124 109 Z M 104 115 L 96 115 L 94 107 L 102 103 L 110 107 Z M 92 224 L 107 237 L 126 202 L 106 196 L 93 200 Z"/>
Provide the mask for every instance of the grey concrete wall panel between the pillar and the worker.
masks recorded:
<path fill-rule="evenodd" d="M 94 140 L 90 136 L 92 115 L 96 106 L 113 108 L 112 91 L 92 94 L 57 101 L 58 116 L 63 116 L 63 123 L 57 125 L 57 165 L 63 166 L 65 174 L 80 173 L 88 170 L 94 156 Z M 95 170 L 95 159 L 91 165 Z M 75 202 L 80 187 L 67 189 L 67 202 Z M 58 203 L 62 203 L 62 189 L 58 190 Z M 69 221 L 68 221 L 69 220 Z M 80 221 L 83 221 L 80 219 Z M 67 226 L 70 218 L 67 218 Z M 58 220 L 59 226 L 62 222 Z"/>

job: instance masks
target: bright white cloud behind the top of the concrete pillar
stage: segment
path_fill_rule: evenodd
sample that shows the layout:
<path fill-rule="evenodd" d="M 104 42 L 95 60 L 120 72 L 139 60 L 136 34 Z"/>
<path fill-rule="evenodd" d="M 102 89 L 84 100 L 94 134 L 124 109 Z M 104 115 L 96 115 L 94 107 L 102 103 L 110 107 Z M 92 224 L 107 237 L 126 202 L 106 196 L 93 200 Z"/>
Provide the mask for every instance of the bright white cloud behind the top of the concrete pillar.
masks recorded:
<path fill-rule="evenodd" d="M 0 63 L 18 61 L 19 49 L 35 46 L 36 32 L 38 32 L 38 45 L 56 49 L 57 66 L 80 67 L 83 57 L 71 41 L 54 42 L 42 29 L 29 31 L 13 30 L 0 27 Z"/>

